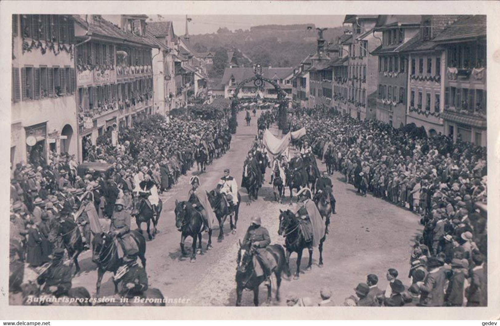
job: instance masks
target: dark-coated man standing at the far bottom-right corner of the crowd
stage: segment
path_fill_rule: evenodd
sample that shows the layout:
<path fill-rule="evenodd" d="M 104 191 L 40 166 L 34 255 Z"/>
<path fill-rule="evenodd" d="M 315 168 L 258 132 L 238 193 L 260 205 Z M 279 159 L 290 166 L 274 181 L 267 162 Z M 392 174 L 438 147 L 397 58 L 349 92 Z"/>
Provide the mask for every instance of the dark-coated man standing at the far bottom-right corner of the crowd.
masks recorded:
<path fill-rule="evenodd" d="M 481 253 L 472 255 L 475 267 L 470 271 L 470 286 L 467 293 L 467 306 L 487 306 L 487 271 Z"/>

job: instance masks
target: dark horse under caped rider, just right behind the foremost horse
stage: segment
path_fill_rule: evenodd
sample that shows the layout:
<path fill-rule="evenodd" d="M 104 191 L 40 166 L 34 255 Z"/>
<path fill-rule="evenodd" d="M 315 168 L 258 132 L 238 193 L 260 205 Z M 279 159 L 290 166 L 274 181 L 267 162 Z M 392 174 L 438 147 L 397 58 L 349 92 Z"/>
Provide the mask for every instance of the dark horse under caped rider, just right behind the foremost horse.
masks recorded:
<path fill-rule="evenodd" d="M 306 270 L 312 267 L 312 239 L 306 240 L 300 228 L 300 217 L 296 216 L 291 210 L 279 210 L 279 228 L 278 234 L 285 237 L 286 248 L 286 261 L 289 262 L 292 252 L 297 253 L 297 269 L 295 271 L 294 279 L 298 279 L 300 275 L 300 260 L 302 259 L 302 251 L 307 248 L 309 251 L 309 262 L 307 263 Z M 326 238 L 324 235 L 319 240 L 319 267 L 323 266 L 323 242 Z"/>

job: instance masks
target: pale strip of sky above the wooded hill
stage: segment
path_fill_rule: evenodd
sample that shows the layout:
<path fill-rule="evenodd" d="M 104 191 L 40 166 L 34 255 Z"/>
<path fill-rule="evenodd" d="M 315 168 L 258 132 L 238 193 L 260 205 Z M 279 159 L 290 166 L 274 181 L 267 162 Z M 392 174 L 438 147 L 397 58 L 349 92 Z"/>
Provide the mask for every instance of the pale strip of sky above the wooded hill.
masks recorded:
<path fill-rule="evenodd" d="M 149 15 L 153 20 L 173 21 L 173 31 L 183 35 L 185 31 L 185 15 Z M 214 33 L 219 27 L 249 29 L 257 25 L 290 25 L 313 23 L 316 27 L 336 27 L 342 25 L 344 15 L 188 15 L 189 34 Z"/>

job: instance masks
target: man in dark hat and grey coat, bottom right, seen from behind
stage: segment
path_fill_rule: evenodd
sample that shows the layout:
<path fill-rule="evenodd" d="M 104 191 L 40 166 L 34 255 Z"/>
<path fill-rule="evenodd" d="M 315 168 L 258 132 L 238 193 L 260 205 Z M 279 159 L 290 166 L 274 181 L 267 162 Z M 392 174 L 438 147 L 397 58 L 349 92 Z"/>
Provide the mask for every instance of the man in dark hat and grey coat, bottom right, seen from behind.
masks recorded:
<path fill-rule="evenodd" d="M 446 274 L 441 268 L 441 262 L 430 257 L 427 261 L 428 274 L 420 286 L 420 305 L 442 306 L 444 303 L 444 285 Z M 418 284 L 418 283 L 417 283 Z"/>

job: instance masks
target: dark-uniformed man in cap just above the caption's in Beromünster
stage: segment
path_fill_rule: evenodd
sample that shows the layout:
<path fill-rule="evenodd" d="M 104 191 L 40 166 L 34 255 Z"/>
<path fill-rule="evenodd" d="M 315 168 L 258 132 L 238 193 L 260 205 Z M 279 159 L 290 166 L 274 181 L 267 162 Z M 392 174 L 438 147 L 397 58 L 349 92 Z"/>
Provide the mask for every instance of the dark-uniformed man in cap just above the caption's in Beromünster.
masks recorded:
<path fill-rule="evenodd" d="M 119 282 L 119 295 L 123 297 L 143 296 L 144 291 L 147 290 L 146 270 L 137 263 L 137 255 L 123 257 L 123 264 L 113 277 Z"/>

